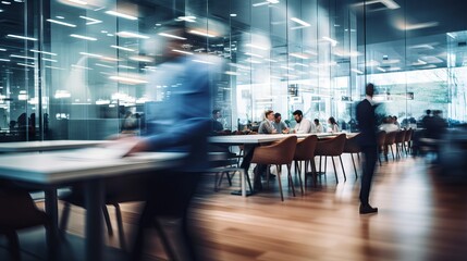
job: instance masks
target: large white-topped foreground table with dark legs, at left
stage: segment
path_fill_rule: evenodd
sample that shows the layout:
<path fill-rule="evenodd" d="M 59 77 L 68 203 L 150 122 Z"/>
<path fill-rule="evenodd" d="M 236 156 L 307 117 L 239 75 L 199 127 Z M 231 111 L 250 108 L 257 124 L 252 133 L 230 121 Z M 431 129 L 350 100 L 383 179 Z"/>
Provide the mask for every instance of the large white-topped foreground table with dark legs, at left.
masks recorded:
<path fill-rule="evenodd" d="M 76 157 L 74 157 L 76 156 Z M 25 182 L 38 188 L 60 187 L 70 182 L 83 182 L 86 198 L 86 260 L 102 260 L 102 212 L 107 177 L 165 170 L 177 165 L 185 153 L 138 153 L 123 159 L 84 159 L 79 150 L 20 153 L 0 157 L 0 177 Z M 57 216 L 57 192 L 46 192 L 46 211 Z M 51 211 L 51 212 L 50 212 Z M 52 217 L 53 219 L 53 217 Z M 48 241 L 57 234 L 48 233 Z M 52 246 L 53 247 L 53 246 Z"/>

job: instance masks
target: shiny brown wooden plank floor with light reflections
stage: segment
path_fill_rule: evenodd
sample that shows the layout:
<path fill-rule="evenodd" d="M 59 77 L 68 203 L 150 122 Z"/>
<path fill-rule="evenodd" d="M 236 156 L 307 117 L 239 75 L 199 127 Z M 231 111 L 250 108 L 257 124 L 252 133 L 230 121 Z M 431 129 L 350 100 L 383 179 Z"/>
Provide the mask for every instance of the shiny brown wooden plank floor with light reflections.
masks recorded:
<path fill-rule="evenodd" d="M 213 192 L 213 176 L 204 177 L 191 217 L 201 260 L 466 260 L 465 182 L 440 178 L 442 173 L 425 159 L 383 163 L 377 169 L 370 196 L 379 213 L 360 215 L 359 179 L 349 158 L 344 162 L 346 182 L 339 167 L 336 185 L 330 165 L 327 178 L 316 186 L 307 184 L 304 197 L 299 190 L 293 197 L 283 177 L 284 202 L 276 182 L 269 190 L 242 198 L 230 195 L 234 187 L 225 181 Z M 122 209 L 131 240 L 138 204 Z M 71 233 L 83 235 L 83 214 L 73 209 Z M 108 244 L 118 247 L 116 225 L 114 229 Z M 146 253 L 147 260 L 167 259 L 156 234 L 149 236 Z"/>

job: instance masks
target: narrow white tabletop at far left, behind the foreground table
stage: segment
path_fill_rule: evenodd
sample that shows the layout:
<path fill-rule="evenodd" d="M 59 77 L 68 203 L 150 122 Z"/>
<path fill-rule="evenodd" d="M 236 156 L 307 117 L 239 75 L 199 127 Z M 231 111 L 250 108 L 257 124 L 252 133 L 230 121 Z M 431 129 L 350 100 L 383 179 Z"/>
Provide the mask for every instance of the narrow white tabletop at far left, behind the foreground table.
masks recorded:
<path fill-rule="evenodd" d="M 62 149 L 78 149 L 98 146 L 108 140 L 44 140 L 44 141 L 15 141 L 0 142 L 0 152 L 33 152 Z"/>

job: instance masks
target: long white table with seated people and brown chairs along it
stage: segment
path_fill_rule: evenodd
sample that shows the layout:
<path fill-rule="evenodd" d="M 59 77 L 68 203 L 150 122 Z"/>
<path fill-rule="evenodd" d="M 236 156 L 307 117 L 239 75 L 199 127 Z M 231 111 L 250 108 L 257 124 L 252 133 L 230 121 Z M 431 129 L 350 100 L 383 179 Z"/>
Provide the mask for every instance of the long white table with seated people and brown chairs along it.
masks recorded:
<path fill-rule="evenodd" d="M 261 144 L 270 144 L 281 139 L 284 139 L 290 136 L 296 136 L 298 139 L 304 139 L 310 135 L 318 136 L 318 139 L 328 139 L 336 137 L 337 135 L 343 133 L 315 133 L 315 134 L 255 134 L 255 135 L 220 135 L 209 137 L 209 142 L 220 146 L 245 146 L 244 158 L 241 164 L 241 167 L 244 169 L 245 173 L 248 173 L 248 169 L 250 165 L 250 161 L 253 158 L 253 153 L 255 148 L 260 146 Z M 356 133 L 345 133 L 347 137 L 353 137 L 357 135 Z M 249 176 L 246 175 L 247 178 L 242 178 L 242 190 L 241 192 L 234 191 L 234 195 L 253 195 L 254 190 L 251 189 L 251 184 L 249 181 Z M 249 192 L 245 191 L 246 182 L 249 185 Z M 258 182 L 258 181 L 255 181 Z"/>

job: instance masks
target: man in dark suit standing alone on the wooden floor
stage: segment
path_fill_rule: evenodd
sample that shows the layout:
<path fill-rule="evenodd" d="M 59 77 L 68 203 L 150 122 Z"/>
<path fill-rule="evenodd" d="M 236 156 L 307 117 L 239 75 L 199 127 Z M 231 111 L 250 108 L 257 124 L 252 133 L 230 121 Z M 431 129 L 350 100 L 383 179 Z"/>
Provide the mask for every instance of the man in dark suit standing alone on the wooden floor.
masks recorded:
<path fill-rule="evenodd" d="M 360 214 L 376 213 L 378 208 L 372 208 L 368 198 L 370 196 L 371 179 L 373 178 L 374 166 L 377 163 L 377 134 L 376 116 L 373 105 L 374 85 L 368 84 L 365 92 L 367 97 L 357 105 L 357 122 L 360 129 L 359 145 L 365 154 L 364 175 L 361 176 L 360 188 Z"/>

